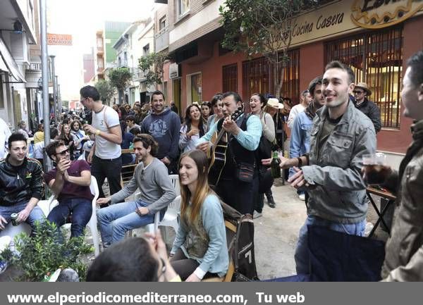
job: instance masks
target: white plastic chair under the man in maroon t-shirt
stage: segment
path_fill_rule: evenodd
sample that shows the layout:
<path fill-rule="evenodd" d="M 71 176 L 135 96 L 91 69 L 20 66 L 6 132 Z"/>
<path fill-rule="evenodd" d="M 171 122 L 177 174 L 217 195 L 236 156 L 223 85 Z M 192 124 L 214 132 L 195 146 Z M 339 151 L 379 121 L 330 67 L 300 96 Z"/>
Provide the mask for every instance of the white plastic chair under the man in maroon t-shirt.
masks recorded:
<path fill-rule="evenodd" d="M 91 191 L 91 194 L 94 195 L 94 198 L 92 199 L 92 214 L 91 214 L 90 221 L 88 221 L 87 223 L 87 227 L 89 227 L 91 231 L 92 242 L 94 244 L 94 255 L 99 256 L 100 240 L 99 240 L 99 232 L 97 230 L 97 213 L 96 213 L 96 210 L 97 210 L 96 201 L 99 198 L 99 187 L 97 185 L 97 180 L 95 180 L 94 176 L 91 176 L 90 191 Z M 54 199 L 54 195 L 51 195 L 51 197 L 48 200 L 42 200 L 38 202 L 39 208 L 42 209 L 46 217 L 49 215 L 50 211 L 58 204 L 59 204 L 59 201 Z M 71 223 L 64 224 L 63 228 L 66 228 L 66 230 L 71 229 Z"/>

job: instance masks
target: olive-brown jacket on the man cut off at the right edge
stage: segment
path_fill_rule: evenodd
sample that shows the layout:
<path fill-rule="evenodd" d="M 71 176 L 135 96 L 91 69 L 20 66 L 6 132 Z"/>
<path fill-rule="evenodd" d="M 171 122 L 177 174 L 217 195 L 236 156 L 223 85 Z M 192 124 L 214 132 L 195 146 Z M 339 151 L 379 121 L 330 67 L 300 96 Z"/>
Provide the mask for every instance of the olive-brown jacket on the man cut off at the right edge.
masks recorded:
<path fill-rule="evenodd" d="M 423 120 L 411 127 L 413 142 L 385 187 L 399 185 L 391 237 L 382 267 L 385 281 L 423 281 Z"/>

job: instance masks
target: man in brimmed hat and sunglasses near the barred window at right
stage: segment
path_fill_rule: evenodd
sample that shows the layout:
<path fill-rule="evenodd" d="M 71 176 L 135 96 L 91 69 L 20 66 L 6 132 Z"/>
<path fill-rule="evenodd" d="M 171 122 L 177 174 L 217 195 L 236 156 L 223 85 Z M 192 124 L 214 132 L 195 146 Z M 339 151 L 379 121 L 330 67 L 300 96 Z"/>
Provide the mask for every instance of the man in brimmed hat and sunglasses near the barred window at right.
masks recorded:
<path fill-rule="evenodd" d="M 358 82 L 354 88 L 355 108 L 364 113 L 374 125 L 374 130 L 377 132 L 381 131 L 381 111 L 373 101 L 369 101 L 369 97 L 372 95 L 372 90 L 365 82 Z"/>

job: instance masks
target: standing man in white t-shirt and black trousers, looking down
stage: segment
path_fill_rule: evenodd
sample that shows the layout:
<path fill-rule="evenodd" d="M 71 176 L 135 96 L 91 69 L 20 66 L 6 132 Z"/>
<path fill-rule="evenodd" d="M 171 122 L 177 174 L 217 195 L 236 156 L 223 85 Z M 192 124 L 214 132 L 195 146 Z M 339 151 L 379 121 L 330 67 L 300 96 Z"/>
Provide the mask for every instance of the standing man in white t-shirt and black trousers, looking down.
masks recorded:
<path fill-rule="evenodd" d="M 80 89 L 81 104 L 92 110 L 92 125 L 84 125 L 85 133 L 95 135 L 95 142 L 87 157 L 91 163 L 91 174 L 99 185 L 100 196 L 107 178 L 110 194 L 121 190 L 121 142 L 122 130 L 119 116 L 113 108 L 103 105 L 95 87 L 85 86 Z"/>

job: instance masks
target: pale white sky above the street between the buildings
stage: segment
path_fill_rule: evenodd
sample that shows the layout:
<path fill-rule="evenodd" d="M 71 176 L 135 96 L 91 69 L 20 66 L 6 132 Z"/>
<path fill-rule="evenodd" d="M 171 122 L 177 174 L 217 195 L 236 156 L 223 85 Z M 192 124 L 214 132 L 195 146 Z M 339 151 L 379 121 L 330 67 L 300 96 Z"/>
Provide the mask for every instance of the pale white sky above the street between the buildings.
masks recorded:
<path fill-rule="evenodd" d="M 95 45 L 104 21 L 133 22 L 152 15 L 154 0 L 47 0 L 47 32 L 72 35 L 72 46 L 48 46 L 55 55 L 62 100 L 79 99 L 82 54 Z"/>

